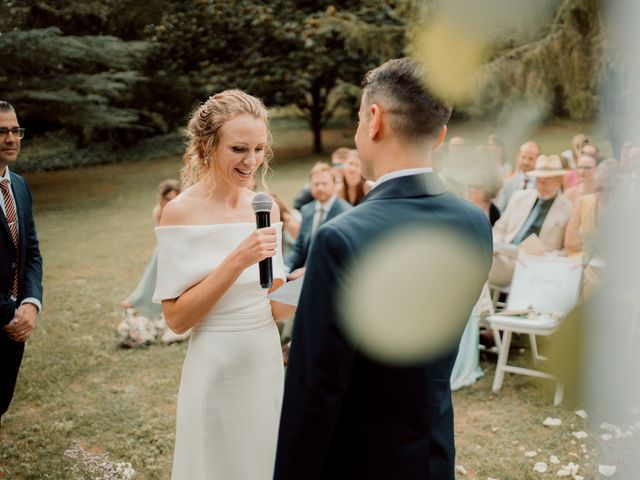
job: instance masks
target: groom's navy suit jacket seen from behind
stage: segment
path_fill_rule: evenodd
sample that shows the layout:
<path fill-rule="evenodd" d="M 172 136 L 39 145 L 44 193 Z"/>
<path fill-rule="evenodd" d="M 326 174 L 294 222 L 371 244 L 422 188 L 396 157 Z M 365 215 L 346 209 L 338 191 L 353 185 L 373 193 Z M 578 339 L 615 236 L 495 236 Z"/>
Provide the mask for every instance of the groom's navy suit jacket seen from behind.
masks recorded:
<path fill-rule="evenodd" d="M 489 220 L 447 192 L 435 173 L 388 180 L 323 225 L 296 313 L 275 480 L 453 480 L 449 383 L 457 345 L 411 366 L 376 361 L 344 336 L 335 300 L 362 252 L 405 227 L 444 227 L 469 240 L 481 265 L 469 304 L 479 296 L 492 260 Z"/>

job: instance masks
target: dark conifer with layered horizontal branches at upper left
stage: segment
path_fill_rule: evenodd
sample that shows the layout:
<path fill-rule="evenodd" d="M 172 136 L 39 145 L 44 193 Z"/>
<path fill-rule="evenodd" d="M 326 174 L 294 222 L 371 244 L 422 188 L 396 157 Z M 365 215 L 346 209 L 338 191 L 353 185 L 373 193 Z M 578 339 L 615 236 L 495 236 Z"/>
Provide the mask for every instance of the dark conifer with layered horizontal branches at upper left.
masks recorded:
<path fill-rule="evenodd" d="M 35 130 L 65 127 L 80 143 L 127 140 L 163 130 L 162 118 L 133 108 L 136 70 L 149 45 L 110 36 L 64 36 L 57 27 L 0 36 L 0 96 Z M 114 137 L 115 136 L 115 137 Z"/>

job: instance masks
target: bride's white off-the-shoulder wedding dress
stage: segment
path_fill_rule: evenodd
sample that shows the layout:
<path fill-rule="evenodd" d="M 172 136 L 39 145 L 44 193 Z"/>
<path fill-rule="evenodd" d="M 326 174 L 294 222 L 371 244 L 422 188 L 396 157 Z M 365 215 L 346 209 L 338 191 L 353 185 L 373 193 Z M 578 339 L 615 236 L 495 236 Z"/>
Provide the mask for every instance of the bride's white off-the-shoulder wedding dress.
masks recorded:
<path fill-rule="evenodd" d="M 274 278 L 285 278 L 282 224 Z M 157 227 L 154 301 L 178 297 L 202 280 L 256 226 Z M 278 329 L 258 265 L 246 269 L 194 329 L 178 394 L 174 480 L 273 477 L 284 368 Z"/>

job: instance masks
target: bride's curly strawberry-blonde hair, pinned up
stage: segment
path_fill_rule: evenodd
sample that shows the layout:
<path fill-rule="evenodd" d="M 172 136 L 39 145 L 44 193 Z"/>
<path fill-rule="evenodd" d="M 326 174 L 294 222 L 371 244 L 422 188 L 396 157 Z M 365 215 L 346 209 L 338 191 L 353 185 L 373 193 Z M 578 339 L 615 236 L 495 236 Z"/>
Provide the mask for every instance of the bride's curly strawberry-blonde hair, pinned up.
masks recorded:
<path fill-rule="evenodd" d="M 262 101 L 242 90 L 225 90 L 212 95 L 193 111 L 187 125 L 187 148 L 184 152 L 184 167 L 180 175 L 183 188 L 213 174 L 214 152 L 220 141 L 222 125 L 236 115 L 248 113 L 261 118 L 267 125 L 269 145 L 265 147 L 262 176 L 269 168 L 271 159 L 271 135 L 268 130 L 269 112 Z"/>

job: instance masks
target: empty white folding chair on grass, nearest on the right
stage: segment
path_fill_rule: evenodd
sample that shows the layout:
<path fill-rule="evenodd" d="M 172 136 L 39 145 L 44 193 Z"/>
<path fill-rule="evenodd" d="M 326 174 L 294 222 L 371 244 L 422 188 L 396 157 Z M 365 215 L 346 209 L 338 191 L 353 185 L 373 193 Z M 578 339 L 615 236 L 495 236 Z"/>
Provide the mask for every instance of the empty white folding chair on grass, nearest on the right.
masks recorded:
<path fill-rule="evenodd" d="M 581 257 L 547 257 L 521 255 L 516 263 L 507 299 L 508 311 L 533 310 L 538 318 L 513 315 L 491 315 L 487 321 L 498 337 L 502 332 L 493 391 L 498 393 L 506 372 L 557 380 L 555 376 L 532 368 L 508 365 L 511 337 L 526 334 L 531 343 L 534 366 L 546 358 L 538 353 L 536 336 L 549 336 L 560 325 L 561 317 L 571 311 L 577 301 L 582 280 Z M 505 311 L 505 313 L 507 313 Z M 552 314 L 556 314 L 552 316 Z M 561 314 L 560 317 L 557 314 Z M 563 387 L 558 382 L 554 404 L 562 401 Z"/>

